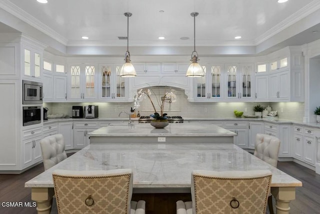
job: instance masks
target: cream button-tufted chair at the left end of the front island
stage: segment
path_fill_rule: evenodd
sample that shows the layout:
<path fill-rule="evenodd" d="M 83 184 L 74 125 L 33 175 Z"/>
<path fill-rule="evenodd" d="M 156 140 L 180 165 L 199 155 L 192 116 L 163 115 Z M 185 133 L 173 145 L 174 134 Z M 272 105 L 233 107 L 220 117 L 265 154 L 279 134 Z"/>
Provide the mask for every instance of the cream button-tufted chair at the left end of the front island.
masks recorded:
<path fill-rule="evenodd" d="M 64 160 L 65 143 L 62 134 L 53 134 L 40 140 L 44 170 Z"/>

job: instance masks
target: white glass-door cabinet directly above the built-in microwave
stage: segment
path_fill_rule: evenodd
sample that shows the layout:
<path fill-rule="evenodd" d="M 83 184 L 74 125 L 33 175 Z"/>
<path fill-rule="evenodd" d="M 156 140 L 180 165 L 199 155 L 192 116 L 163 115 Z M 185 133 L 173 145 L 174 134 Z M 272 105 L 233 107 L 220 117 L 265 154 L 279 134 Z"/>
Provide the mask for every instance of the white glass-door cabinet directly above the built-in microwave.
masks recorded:
<path fill-rule="evenodd" d="M 26 45 L 22 47 L 22 72 L 24 77 L 40 78 L 42 52 Z"/>

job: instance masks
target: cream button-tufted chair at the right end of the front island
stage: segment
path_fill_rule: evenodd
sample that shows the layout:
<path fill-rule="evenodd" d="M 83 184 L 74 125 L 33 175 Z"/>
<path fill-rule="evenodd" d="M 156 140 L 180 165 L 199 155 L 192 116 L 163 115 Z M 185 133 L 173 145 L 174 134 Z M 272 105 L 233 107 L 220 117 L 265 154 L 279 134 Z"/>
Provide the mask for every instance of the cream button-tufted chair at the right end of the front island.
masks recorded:
<path fill-rule="evenodd" d="M 253 155 L 276 167 L 280 149 L 280 140 L 266 134 L 256 134 Z M 273 214 L 272 194 L 269 193 L 268 206 L 270 214 Z"/>

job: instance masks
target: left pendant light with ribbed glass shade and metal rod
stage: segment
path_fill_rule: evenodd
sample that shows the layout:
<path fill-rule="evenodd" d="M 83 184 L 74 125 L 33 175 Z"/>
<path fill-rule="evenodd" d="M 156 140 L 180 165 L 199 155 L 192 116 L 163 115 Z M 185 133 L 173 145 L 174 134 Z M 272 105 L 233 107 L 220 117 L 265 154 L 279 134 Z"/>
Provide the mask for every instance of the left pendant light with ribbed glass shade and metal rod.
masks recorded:
<path fill-rule="evenodd" d="M 124 16 L 127 17 L 127 43 L 126 43 L 126 52 L 124 55 L 125 63 L 120 68 L 118 75 L 120 77 L 135 77 L 136 72 L 130 61 L 130 53 L 129 53 L 129 17 L 132 16 L 131 13 L 124 13 Z"/>

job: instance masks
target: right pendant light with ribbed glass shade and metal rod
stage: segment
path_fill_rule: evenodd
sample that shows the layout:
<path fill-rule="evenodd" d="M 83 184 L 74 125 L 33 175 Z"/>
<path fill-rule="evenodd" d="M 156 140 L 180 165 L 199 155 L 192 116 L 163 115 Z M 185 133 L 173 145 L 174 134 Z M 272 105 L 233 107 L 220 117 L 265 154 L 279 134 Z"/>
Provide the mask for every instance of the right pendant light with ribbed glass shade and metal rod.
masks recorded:
<path fill-rule="evenodd" d="M 186 71 L 187 77 L 203 77 L 204 71 L 203 68 L 198 64 L 198 53 L 195 51 L 195 17 L 199 15 L 199 13 L 191 13 L 191 17 L 193 17 L 193 33 L 194 33 L 194 50 L 191 54 L 191 64 Z"/>

